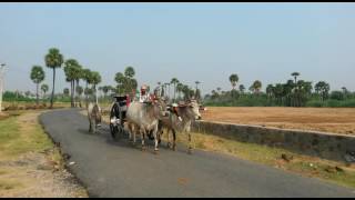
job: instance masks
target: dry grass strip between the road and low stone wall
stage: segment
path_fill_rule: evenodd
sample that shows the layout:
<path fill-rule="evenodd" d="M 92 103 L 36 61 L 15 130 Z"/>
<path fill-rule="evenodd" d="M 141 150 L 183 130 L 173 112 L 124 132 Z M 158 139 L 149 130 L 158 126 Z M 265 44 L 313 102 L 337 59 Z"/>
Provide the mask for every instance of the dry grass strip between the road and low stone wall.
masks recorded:
<path fill-rule="evenodd" d="M 176 138 L 178 142 L 187 144 L 186 134 L 178 133 Z M 163 134 L 162 140 L 166 141 L 166 133 Z M 240 142 L 233 137 L 225 139 L 217 136 L 193 132 L 192 142 L 195 149 L 222 152 L 243 160 L 250 160 L 302 176 L 355 188 L 354 169 L 342 162 L 297 154 L 281 148 Z M 286 154 L 293 159 L 282 159 L 282 154 Z"/>

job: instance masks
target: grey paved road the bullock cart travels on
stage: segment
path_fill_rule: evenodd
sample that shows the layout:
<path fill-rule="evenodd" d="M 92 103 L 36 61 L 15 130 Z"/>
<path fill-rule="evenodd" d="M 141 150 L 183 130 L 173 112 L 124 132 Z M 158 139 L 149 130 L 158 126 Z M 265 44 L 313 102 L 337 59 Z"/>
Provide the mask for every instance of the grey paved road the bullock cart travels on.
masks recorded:
<path fill-rule="evenodd" d="M 40 117 L 60 142 L 91 197 L 355 197 L 353 190 L 303 178 L 234 157 L 152 146 L 142 152 L 126 139 L 113 141 L 109 127 L 88 133 L 88 120 L 75 109 Z"/>

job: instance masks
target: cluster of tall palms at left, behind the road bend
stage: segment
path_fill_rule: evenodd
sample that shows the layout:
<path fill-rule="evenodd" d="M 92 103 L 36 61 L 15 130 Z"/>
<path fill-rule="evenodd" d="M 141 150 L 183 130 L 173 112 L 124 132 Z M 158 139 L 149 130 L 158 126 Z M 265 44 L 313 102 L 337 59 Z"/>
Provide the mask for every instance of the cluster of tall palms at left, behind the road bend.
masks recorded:
<path fill-rule="evenodd" d="M 44 56 L 45 66 L 53 70 L 53 83 L 52 83 L 52 93 L 50 98 L 50 108 L 53 108 L 54 99 L 54 89 L 55 89 L 55 72 L 57 69 L 63 67 L 65 73 L 65 80 L 70 82 L 70 92 L 71 92 L 71 106 L 74 107 L 74 96 L 78 94 L 80 106 L 80 96 L 84 91 L 87 94 L 87 104 L 88 104 L 88 94 L 91 93 L 90 90 L 93 90 L 97 93 L 97 86 L 101 82 L 101 76 L 97 71 L 91 71 L 90 69 L 84 69 L 75 59 L 64 60 L 63 54 L 60 53 L 59 49 L 51 48 L 48 53 Z M 37 104 L 39 103 L 39 84 L 44 80 L 45 73 L 41 66 L 33 66 L 31 70 L 31 80 L 37 84 Z M 85 81 L 85 90 L 80 87 L 80 80 Z M 89 84 L 92 84 L 92 88 L 89 88 Z M 48 84 L 42 84 L 41 90 L 44 96 L 49 90 Z M 69 89 L 68 89 L 69 90 Z M 64 89 L 64 93 L 69 92 Z M 95 96 L 97 97 L 97 96 Z M 98 99 L 98 98 L 97 98 Z"/>

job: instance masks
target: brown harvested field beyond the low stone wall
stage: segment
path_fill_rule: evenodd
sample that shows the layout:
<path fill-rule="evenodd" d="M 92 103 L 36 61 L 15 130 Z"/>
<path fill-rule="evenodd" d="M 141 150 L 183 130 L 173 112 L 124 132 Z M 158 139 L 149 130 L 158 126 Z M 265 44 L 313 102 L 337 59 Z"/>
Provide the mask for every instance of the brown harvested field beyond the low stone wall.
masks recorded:
<path fill-rule="evenodd" d="M 209 107 L 206 121 L 355 136 L 355 108 Z"/>

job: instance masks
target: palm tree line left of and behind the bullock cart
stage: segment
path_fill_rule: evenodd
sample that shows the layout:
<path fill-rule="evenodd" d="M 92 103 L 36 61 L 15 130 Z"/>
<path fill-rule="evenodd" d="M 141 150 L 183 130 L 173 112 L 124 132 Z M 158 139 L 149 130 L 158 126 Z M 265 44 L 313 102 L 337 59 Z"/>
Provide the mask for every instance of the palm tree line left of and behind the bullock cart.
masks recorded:
<path fill-rule="evenodd" d="M 63 89 L 63 96 L 70 96 L 71 107 L 81 107 L 82 94 L 85 96 L 85 104 L 88 107 L 89 98 L 94 96 L 98 99 L 97 91 L 103 92 L 103 99 L 111 99 L 114 94 L 134 94 L 138 91 L 138 81 L 134 78 L 135 70 L 133 67 L 126 67 L 123 72 L 116 72 L 114 76 L 114 81 L 116 86 L 102 86 L 102 78 L 98 71 L 92 71 L 89 68 L 83 67 L 80 62 L 73 58 L 64 59 L 64 56 L 57 48 L 49 49 L 48 53 L 44 56 L 45 67 L 52 69 L 52 92 L 50 96 L 50 108 L 53 107 L 53 101 L 55 98 L 55 73 L 57 70 L 63 68 L 65 74 L 65 81 L 70 83 L 70 88 Z M 44 70 L 41 66 L 33 66 L 30 74 L 31 80 L 36 83 L 36 101 L 39 103 L 39 91 L 45 93 L 49 91 L 49 86 L 43 82 L 45 78 Z M 84 82 L 84 88 L 80 86 L 80 82 Z M 163 96 L 172 101 L 185 100 L 190 98 L 195 98 L 201 100 L 201 91 L 197 88 L 200 81 L 195 81 L 195 89 L 182 83 L 178 78 L 172 78 L 171 81 L 162 83 L 158 82 L 160 96 Z M 170 97 L 170 89 L 173 87 L 173 97 Z M 169 91 L 169 92 L 168 92 Z M 110 93 L 110 96 L 108 96 Z M 59 96 L 59 94 L 57 94 Z M 12 96 L 9 96 L 12 97 Z M 18 96 L 17 96 L 18 97 Z"/>

